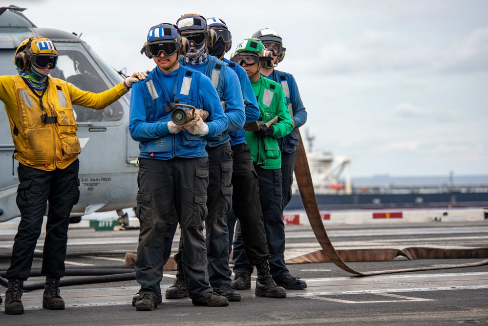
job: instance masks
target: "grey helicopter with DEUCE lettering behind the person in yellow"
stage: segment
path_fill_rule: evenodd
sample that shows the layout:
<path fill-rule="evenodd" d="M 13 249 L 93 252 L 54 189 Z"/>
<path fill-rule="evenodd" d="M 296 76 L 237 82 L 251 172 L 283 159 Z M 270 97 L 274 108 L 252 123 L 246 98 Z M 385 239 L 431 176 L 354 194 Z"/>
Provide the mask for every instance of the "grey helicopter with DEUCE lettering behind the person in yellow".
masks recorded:
<path fill-rule="evenodd" d="M 95 93 L 125 79 L 76 34 L 38 28 L 22 14 L 24 10 L 16 6 L 0 8 L 0 75 L 16 74 L 13 58 L 17 47 L 29 37 L 42 36 L 57 48 L 58 63 L 51 77 Z M 127 213 L 122 209 L 136 206 L 139 154 L 138 143 L 128 131 L 129 93 L 103 110 L 73 106 L 82 152 L 80 199 L 71 211 L 70 223 L 80 222 L 82 216 L 94 212 L 117 211 L 119 222 L 128 225 Z M 21 215 L 16 204 L 18 162 L 13 153 L 9 121 L 5 110 L 0 109 L 0 222 Z"/>

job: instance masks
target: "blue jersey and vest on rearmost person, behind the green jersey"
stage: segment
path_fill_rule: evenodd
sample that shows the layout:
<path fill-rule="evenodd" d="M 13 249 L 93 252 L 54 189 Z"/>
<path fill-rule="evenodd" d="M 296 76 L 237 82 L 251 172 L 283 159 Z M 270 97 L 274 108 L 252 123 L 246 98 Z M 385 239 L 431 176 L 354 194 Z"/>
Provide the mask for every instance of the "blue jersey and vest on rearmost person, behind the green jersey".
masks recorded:
<path fill-rule="evenodd" d="M 274 69 L 269 76 L 264 76 L 277 83 L 281 84 L 283 92 L 285 93 L 286 104 L 292 106 L 290 113 L 295 120 L 295 128 L 290 134 L 278 139 L 279 148 L 282 152 L 293 153 L 296 151 L 295 146 L 298 145 L 298 132 L 295 130 L 307 122 L 307 111 L 301 101 L 300 92 L 298 91 L 297 82 L 292 74 Z"/>

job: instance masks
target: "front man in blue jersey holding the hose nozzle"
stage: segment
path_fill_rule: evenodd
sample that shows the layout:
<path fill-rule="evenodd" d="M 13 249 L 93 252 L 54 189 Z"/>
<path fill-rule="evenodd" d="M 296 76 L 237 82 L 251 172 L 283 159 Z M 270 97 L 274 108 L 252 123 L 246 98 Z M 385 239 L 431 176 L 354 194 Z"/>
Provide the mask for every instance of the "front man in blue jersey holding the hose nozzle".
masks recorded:
<path fill-rule="evenodd" d="M 192 304 L 229 304 L 210 287 L 203 235 L 209 183 L 204 136 L 221 134 L 227 118 L 210 79 L 178 64 L 178 55 L 187 49 L 188 41 L 175 25 L 151 27 L 143 51 L 157 66 L 144 83 L 133 87 L 130 99 L 129 131 L 140 142 L 136 208 L 140 233 L 134 266 L 141 289 L 136 310 L 154 310 L 161 302 L 163 239 L 172 207 L 181 225 L 181 268 Z M 170 116 L 177 103 L 207 110 L 207 122 L 195 114 L 191 121 L 176 125 Z"/>

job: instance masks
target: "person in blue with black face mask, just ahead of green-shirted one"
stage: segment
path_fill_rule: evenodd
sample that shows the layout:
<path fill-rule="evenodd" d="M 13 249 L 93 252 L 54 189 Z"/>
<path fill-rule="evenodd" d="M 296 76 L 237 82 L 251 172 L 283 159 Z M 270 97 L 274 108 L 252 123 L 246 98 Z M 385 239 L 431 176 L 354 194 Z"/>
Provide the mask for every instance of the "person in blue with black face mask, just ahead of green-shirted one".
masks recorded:
<path fill-rule="evenodd" d="M 209 53 L 223 60 L 237 74 L 244 96 L 246 123 L 255 122 L 259 119 L 260 112 L 246 70 L 234 62 L 224 59 L 225 52 L 231 48 L 231 32 L 227 28 L 226 23 L 218 18 L 207 19 L 207 24 L 215 33 L 215 42 L 209 48 Z M 251 158 L 251 151 L 244 137 L 245 131 L 240 129 L 231 131 L 229 134 L 233 152 L 232 185 L 234 191 L 232 195 L 232 210 L 227 215 L 229 252 L 232 249 L 234 225 L 238 217 L 249 263 L 256 266 L 258 280 L 260 281 L 256 283 L 256 295 L 270 298 L 286 297 L 285 289 L 277 286 L 270 274 L 268 262 L 270 254 L 266 240 L 263 212 L 259 202 L 258 179 Z M 229 275 L 231 275 L 230 269 Z M 257 284 L 265 285 L 259 286 Z M 232 285 L 234 288 L 236 287 L 234 284 Z M 246 283 L 241 284 L 237 289 L 245 290 L 250 287 L 251 279 L 248 278 Z"/>

